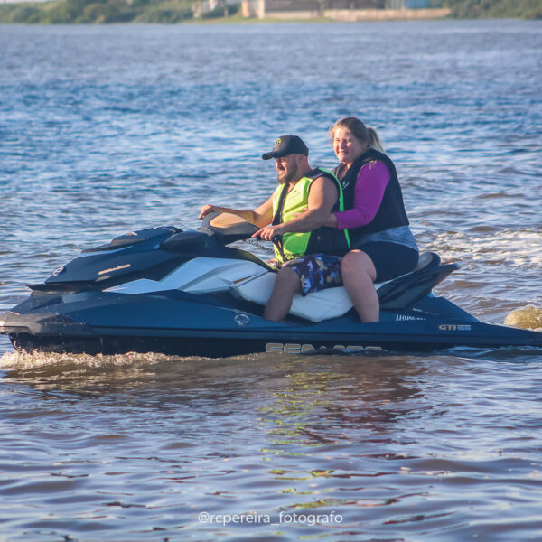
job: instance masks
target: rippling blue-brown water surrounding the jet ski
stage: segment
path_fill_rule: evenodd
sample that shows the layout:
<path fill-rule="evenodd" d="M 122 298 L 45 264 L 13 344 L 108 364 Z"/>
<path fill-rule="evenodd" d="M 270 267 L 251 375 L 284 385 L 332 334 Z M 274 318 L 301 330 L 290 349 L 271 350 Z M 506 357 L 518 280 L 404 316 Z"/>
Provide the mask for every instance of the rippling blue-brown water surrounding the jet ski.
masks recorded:
<path fill-rule="evenodd" d="M 541 66 L 540 22 L 0 26 L 0 310 L 81 248 L 263 201 L 277 135 L 332 166 L 351 114 L 462 264 L 439 293 L 540 306 Z M 542 537 L 537 350 L 0 354 L 2 539 Z"/>

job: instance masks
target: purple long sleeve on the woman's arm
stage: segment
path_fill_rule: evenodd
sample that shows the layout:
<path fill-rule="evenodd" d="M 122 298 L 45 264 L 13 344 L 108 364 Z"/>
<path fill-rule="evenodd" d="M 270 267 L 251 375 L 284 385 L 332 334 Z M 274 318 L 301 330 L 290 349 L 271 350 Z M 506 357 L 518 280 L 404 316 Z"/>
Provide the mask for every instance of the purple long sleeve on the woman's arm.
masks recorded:
<path fill-rule="evenodd" d="M 354 189 L 354 207 L 336 212 L 337 228 L 360 228 L 369 224 L 377 215 L 390 175 L 382 162 L 365 164 L 358 173 Z"/>

